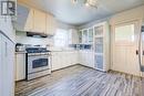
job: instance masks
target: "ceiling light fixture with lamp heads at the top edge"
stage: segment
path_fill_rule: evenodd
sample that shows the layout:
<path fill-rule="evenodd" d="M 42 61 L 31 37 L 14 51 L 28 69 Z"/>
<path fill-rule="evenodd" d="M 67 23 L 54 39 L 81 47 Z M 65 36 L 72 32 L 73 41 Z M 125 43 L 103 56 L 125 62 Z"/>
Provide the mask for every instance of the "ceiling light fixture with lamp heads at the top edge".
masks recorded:
<path fill-rule="evenodd" d="M 81 0 L 72 0 L 73 4 L 80 3 Z M 84 0 L 83 4 L 97 9 L 97 0 Z"/>

